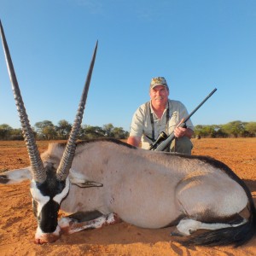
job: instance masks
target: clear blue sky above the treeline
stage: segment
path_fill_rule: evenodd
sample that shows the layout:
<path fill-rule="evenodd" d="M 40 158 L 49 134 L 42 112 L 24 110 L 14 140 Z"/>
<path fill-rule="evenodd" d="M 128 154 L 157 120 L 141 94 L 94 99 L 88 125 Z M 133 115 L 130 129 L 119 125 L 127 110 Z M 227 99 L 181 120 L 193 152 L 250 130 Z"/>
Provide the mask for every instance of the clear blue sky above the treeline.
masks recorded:
<path fill-rule="evenodd" d="M 155 76 L 189 112 L 218 89 L 194 125 L 256 121 L 254 0 L 1 0 L 0 19 L 32 125 L 73 123 L 96 40 L 83 124 L 129 131 Z M 3 49 L 0 103 L 19 128 Z"/>

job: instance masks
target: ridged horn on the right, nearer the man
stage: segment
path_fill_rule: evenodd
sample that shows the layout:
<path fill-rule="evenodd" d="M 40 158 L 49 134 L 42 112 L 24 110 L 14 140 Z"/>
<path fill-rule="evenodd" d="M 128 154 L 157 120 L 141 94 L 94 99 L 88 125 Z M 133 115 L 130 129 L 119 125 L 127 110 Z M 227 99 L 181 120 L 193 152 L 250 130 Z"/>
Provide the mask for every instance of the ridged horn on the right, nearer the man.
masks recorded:
<path fill-rule="evenodd" d="M 96 47 L 94 49 L 94 53 L 93 53 L 92 59 L 90 61 L 90 69 L 88 71 L 87 78 L 86 78 L 86 81 L 84 84 L 84 90 L 83 90 L 83 93 L 82 93 L 82 96 L 80 99 L 79 109 L 78 109 L 76 118 L 73 122 L 72 131 L 69 135 L 69 138 L 67 141 L 67 146 L 66 146 L 64 154 L 61 158 L 60 166 L 58 167 L 58 170 L 57 170 L 56 177 L 58 180 L 65 180 L 68 176 L 69 169 L 72 166 L 73 156 L 74 156 L 75 149 L 76 149 L 76 140 L 79 137 L 79 130 L 80 130 L 82 119 L 83 119 L 84 108 L 85 108 L 85 103 L 86 103 L 86 99 L 87 99 L 87 95 L 88 95 L 88 90 L 90 87 L 90 78 L 91 78 L 91 74 L 93 71 L 94 62 L 96 59 L 97 47 L 98 47 L 98 42 L 96 42 Z"/>

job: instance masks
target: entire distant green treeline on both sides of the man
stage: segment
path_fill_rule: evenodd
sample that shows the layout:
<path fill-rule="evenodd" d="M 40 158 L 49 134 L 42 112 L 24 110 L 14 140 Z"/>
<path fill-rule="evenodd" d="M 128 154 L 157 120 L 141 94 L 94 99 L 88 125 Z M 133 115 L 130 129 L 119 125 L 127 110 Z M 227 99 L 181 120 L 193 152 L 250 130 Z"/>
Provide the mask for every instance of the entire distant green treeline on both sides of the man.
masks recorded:
<path fill-rule="evenodd" d="M 32 129 L 37 140 L 66 140 L 72 125 L 62 119 L 58 125 L 49 120 L 36 123 Z M 125 139 L 128 131 L 112 124 L 100 126 L 82 125 L 79 139 L 114 137 Z M 256 122 L 233 121 L 225 125 L 195 125 L 195 137 L 256 137 Z M 21 129 L 0 125 L 0 140 L 23 140 Z"/>

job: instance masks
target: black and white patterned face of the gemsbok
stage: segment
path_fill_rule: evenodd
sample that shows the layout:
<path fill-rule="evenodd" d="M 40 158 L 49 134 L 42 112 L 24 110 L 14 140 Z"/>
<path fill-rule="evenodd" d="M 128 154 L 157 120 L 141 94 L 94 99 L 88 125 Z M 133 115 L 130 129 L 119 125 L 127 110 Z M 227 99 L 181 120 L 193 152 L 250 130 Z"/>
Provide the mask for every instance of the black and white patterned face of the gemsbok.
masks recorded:
<path fill-rule="evenodd" d="M 34 214 L 38 219 L 36 236 L 41 236 L 43 233 L 54 233 L 59 230 L 58 211 L 61 201 L 69 191 L 68 177 L 65 181 L 58 181 L 55 172 L 47 172 L 47 179 L 44 183 L 36 183 L 32 179 L 30 190 Z"/>

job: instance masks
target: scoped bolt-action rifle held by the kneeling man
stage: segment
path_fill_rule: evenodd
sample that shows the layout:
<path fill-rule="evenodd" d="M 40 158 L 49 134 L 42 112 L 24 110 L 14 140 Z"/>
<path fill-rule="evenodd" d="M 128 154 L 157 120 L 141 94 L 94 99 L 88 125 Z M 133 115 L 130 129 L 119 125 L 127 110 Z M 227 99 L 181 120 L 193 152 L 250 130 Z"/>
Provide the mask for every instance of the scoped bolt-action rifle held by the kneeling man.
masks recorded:
<path fill-rule="evenodd" d="M 212 92 L 191 113 L 189 113 L 189 115 L 184 119 L 183 123 L 178 125 L 177 127 L 186 127 L 186 122 L 188 121 L 188 119 L 198 110 L 198 108 L 201 107 L 202 104 L 204 104 L 204 102 L 207 101 L 207 99 L 210 96 L 212 96 L 212 94 L 216 90 L 217 90 L 216 88 L 212 90 Z M 162 131 L 160 133 L 160 136 L 157 137 L 157 139 L 155 140 L 155 142 L 150 145 L 149 150 L 164 151 L 172 143 L 172 140 L 174 138 L 175 138 L 174 131 L 172 131 L 172 133 L 169 136 L 167 136 L 166 133 Z"/>

